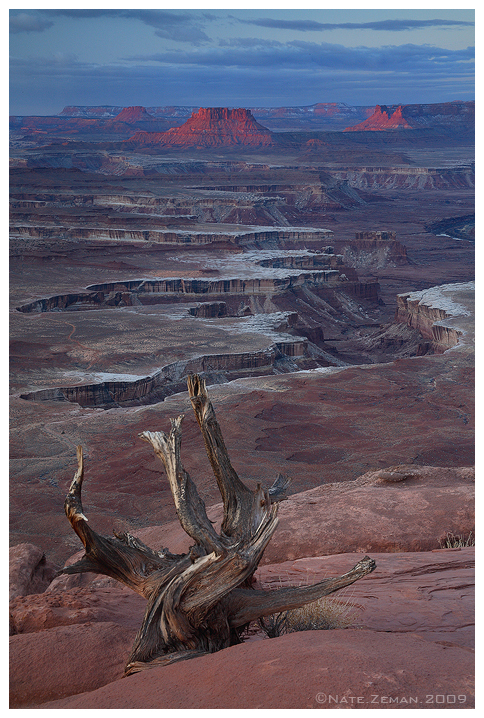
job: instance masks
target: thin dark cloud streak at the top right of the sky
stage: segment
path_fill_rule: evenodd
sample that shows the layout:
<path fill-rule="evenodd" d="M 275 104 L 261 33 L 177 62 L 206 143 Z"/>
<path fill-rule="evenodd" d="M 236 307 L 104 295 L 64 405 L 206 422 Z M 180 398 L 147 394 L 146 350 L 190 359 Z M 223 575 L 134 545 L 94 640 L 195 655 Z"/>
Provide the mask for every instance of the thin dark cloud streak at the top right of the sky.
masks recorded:
<path fill-rule="evenodd" d="M 380 30 L 386 32 L 399 32 L 403 30 L 421 30 L 427 27 L 455 27 L 473 26 L 473 22 L 464 20 L 376 20 L 373 22 L 339 22 L 327 23 L 315 20 L 276 20 L 274 18 L 259 18 L 258 20 L 241 20 L 245 25 L 257 25 L 279 30 L 299 30 L 300 32 L 314 32 L 323 30 Z"/>

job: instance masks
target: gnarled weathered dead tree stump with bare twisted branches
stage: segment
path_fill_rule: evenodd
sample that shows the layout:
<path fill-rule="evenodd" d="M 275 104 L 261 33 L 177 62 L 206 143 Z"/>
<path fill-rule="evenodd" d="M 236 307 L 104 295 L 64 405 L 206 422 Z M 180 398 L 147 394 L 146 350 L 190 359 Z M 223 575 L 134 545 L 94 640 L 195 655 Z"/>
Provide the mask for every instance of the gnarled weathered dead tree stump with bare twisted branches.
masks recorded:
<path fill-rule="evenodd" d="M 224 518 L 217 533 L 205 504 L 180 459 L 183 415 L 171 420 L 171 431 L 144 431 L 161 459 L 178 519 L 194 543 L 186 554 L 154 551 L 129 533 L 103 537 L 88 524 L 81 503 L 84 475 L 82 447 L 78 468 L 65 500 L 65 511 L 81 539 L 84 556 L 61 573 L 92 571 L 111 576 L 147 599 L 125 673 L 163 666 L 219 651 L 241 642 L 244 628 L 258 618 L 298 608 L 350 585 L 373 571 L 365 556 L 348 573 L 313 586 L 275 591 L 251 587 L 259 561 L 277 526 L 278 502 L 285 498 L 287 477 L 279 475 L 269 490 L 250 490 L 237 476 L 220 426 L 197 375 L 188 391 L 208 458 L 222 495 Z"/>

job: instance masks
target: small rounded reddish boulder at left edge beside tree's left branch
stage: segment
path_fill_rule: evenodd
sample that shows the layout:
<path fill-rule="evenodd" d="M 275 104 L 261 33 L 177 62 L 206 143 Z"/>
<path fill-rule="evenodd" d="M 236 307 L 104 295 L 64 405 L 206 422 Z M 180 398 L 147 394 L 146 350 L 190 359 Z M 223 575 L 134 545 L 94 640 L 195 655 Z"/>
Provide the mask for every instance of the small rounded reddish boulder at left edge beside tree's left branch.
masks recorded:
<path fill-rule="evenodd" d="M 17 544 L 10 548 L 9 596 L 42 593 L 54 578 L 58 567 L 47 561 L 38 546 L 29 543 Z"/>

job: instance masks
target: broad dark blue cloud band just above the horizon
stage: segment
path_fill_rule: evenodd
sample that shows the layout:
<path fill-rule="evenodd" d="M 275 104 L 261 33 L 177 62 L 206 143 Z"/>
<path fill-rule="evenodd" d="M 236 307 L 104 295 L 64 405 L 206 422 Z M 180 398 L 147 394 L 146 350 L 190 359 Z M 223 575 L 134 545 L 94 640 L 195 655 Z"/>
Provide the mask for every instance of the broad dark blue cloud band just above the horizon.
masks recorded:
<path fill-rule="evenodd" d="M 227 58 L 223 63 L 218 58 L 217 63 L 208 64 L 205 51 L 172 53 L 170 62 L 151 65 L 96 65 L 78 62 L 70 55 L 12 60 L 11 112 L 55 114 L 69 104 L 280 107 L 315 102 L 375 105 L 473 98 L 474 76 L 465 53 L 458 61 L 449 61 L 435 48 L 417 49 L 372 49 L 364 63 L 356 65 L 349 61 L 346 48 L 335 54 L 334 47 L 332 51 L 323 48 L 319 58 L 317 54 L 311 58 L 306 52 L 304 63 L 294 62 L 289 52 L 300 52 L 300 48 L 286 48 L 291 62 L 284 65 L 277 48 L 268 48 L 272 63 L 267 65 L 258 63 L 260 53 L 250 50 L 248 57 L 256 55 L 256 60 L 245 65 L 227 65 Z M 392 51 L 394 59 L 389 64 Z M 432 60 L 430 52 L 434 53 Z M 177 54 L 186 62 L 175 64 L 172 55 Z M 191 54 L 203 54 L 206 64 L 193 64 Z M 362 56 L 356 57 L 361 60 Z M 36 104 L 46 109 L 34 110 Z"/>

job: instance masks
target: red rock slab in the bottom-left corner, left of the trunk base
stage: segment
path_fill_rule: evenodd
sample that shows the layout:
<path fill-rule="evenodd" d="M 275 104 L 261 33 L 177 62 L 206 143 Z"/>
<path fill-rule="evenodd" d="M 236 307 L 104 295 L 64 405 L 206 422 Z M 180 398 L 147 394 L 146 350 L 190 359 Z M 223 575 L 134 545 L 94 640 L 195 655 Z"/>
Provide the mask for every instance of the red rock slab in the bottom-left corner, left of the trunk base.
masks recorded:
<path fill-rule="evenodd" d="M 135 635 L 132 628 L 96 622 L 11 636 L 10 708 L 28 708 L 116 681 Z"/>

